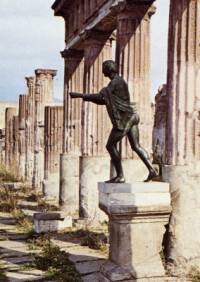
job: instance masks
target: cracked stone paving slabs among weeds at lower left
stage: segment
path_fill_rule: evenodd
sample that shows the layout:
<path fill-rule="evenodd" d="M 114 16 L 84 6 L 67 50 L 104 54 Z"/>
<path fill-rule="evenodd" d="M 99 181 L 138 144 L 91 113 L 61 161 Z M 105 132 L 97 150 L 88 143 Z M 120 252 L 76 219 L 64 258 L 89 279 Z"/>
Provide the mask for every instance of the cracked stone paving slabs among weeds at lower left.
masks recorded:
<path fill-rule="evenodd" d="M 20 207 L 29 217 L 37 210 L 35 202 L 24 200 Z M 27 239 L 28 235 L 19 230 L 12 215 L 0 212 L 0 272 L 3 271 L 7 278 L 0 276 L 0 281 L 49 281 L 43 271 L 29 267 L 33 262 L 33 254 L 39 250 L 30 251 Z M 104 253 L 81 246 L 79 241 L 70 240 L 65 233 L 56 235 L 52 241 L 68 253 L 83 282 L 98 281 L 100 266 L 106 258 Z"/>

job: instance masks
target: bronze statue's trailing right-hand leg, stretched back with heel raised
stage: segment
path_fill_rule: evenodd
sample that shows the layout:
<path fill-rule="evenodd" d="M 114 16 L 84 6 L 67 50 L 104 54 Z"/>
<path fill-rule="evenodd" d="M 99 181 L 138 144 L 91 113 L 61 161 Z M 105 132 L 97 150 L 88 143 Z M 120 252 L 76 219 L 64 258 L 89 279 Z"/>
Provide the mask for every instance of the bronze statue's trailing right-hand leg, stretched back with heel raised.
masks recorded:
<path fill-rule="evenodd" d="M 157 172 L 153 168 L 153 165 L 149 158 L 149 154 L 144 148 L 140 146 L 138 125 L 133 125 L 130 131 L 127 133 L 127 136 L 132 150 L 137 153 L 137 155 L 140 157 L 140 159 L 143 161 L 143 163 L 149 170 L 148 178 L 145 181 L 150 181 L 152 178 L 157 176 Z"/>

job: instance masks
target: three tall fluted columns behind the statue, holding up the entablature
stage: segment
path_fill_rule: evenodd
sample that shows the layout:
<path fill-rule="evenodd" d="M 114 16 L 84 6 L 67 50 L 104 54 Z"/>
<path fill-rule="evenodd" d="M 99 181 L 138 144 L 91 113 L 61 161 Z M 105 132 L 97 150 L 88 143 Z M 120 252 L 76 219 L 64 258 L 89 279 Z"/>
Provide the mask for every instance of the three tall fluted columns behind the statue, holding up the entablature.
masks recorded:
<path fill-rule="evenodd" d="M 103 61 L 116 60 L 119 73 L 128 82 L 131 100 L 137 102 L 141 116 L 141 144 L 151 152 L 150 18 L 154 12 L 149 3 L 126 5 L 117 15 L 116 35 L 90 31 L 81 50 L 62 52 L 65 88 L 60 204 L 69 214 L 101 217 L 96 183 L 110 177 L 110 158 L 105 146 L 111 123 L 105 107 L 81 99 L 74 101 L 69 96 L 71 91 L 98 93 L 109 83 L 102 74 Z M 122 144 L 122 156 L 127 180 L 144 179 L 147 170 L 133 155 L 127 140 Z"/>

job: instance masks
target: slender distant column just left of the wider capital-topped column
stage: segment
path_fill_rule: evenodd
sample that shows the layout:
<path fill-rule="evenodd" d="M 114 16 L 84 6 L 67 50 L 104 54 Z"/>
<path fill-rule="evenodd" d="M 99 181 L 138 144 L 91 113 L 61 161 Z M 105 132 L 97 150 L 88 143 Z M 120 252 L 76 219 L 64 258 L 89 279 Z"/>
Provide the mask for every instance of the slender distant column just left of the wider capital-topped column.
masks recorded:
<path fill-rule="evenodd" d="M 32 182 L 34 163 L 34 117 L 35 117 L 35 77 L 26 77 L 28 87 L 28 105 L 26 113 L 26 181 Z"/>

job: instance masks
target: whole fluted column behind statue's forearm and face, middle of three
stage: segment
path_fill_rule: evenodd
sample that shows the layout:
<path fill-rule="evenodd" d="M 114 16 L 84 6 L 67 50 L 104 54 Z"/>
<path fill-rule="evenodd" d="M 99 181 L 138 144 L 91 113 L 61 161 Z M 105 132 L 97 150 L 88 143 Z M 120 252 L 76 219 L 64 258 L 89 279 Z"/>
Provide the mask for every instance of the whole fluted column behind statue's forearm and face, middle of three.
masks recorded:
<path fill-rule="evenodd" d="M 90 34 L 84 43 L 84 92 L 98 93 L 109 80 L 102 74 L 102 63 L 112 59 L 112 42 L 106 33 Z M 106 141 L 111 124 L 104 106 L 83 102 L 82 157 L 80 160 L 80 215 L 95 220 L 105 219 L 98 208 L 98 181 L 109 179 L 110 157 Z"/>

